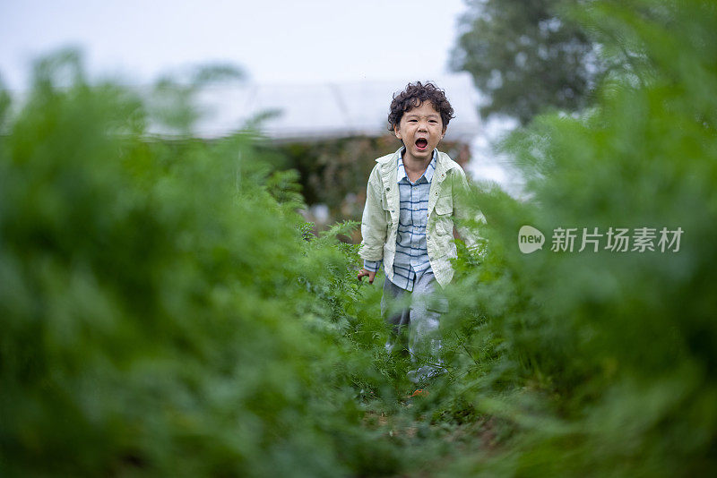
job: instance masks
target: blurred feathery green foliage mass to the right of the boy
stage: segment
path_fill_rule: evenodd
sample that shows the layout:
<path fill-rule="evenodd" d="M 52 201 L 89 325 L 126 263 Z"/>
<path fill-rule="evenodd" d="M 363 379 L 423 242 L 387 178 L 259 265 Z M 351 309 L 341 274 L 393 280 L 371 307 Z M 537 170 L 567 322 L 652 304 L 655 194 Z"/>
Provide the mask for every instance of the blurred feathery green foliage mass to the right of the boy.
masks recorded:
<path fill-rule="evenodd" d="M 542 116 L 505 142 L 530 200 L 477 195 L 488 246 L 462 266 L 452 329 L 490 362 L 454 367 L 462 396 L 513 433 L 451 475 L 717 471 L 717 10 L 600 2 L 587 20 L 620 32 L 640 66 L 612 73 L 583 115 Z M 523 225 L 546 235 L 541 251 L 519 252 Z M 655 250 L 611 252 L 602 237 L 578 252 L 583 227 L 610 226 L 655 228 Z M 557 227 L 578 228 L 574 252 L 550 250 Z M 678 252 L 661 252 L 661 227 L 682 228 Z"/>

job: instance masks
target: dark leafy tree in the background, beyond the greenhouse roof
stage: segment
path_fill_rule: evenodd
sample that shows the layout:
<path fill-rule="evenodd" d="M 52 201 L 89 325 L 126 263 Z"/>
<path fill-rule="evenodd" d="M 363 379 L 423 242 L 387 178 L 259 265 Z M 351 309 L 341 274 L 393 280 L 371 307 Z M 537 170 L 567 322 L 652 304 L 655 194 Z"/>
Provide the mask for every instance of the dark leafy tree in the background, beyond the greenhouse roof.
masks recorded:
<path fill-rule="evenodd" d="M 480 114 L 522 124 L 553 107 L 583 107 L 604 72 L 597 48 L 561 9 L 566 0 L 468 0 L 451 58 L 471 73 L 487 101 Z"/>

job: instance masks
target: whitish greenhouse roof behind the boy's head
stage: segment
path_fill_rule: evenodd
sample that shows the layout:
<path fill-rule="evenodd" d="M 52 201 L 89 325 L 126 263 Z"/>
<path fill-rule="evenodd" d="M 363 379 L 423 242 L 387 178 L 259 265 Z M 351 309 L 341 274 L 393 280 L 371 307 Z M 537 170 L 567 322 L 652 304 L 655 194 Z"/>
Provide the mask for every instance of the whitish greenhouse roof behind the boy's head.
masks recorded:
<path fill-rule="evenodd" d="M 480 132 L 478 92 L 467 73 L 436 78 L 454 107 L 446 140 L 471 141 Z M 196 132 L 219 137 L 264 116 L 260 131 L 279 141 L 312 141 L 387 132 L 388 107 L 402 81 L 356 81 L 323 84 L 219 85 L 202 91 L 205 111 Z"/>

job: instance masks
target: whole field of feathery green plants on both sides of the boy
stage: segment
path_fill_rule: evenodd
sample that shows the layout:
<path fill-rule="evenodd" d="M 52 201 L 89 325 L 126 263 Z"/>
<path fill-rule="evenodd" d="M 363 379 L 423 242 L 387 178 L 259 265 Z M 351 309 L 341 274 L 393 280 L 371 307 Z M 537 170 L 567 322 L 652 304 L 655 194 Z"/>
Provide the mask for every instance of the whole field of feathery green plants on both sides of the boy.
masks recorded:
<path fill-rule="evenodd" d="M 629 62 L 502 144 L 527 199 L 473 184 L 418 397 L 356 223 L 312 234 L 256 133 L 189 133 L 212 72 L 140 95 L 39 59 L 0 92 L 0 475 L 717 474 L 717 5 L 574 14 Z"/>

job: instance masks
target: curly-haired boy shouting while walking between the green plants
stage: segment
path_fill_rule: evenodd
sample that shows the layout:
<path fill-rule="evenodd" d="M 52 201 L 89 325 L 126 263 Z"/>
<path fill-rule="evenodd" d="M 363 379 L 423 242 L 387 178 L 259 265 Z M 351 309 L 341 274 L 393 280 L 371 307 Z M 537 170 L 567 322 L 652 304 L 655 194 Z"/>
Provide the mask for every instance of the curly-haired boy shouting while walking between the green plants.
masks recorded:
<path fill-rule="evenodd" d="M 453 114 L 445 92 L 430 82 L 409 83 L 393 96 L 389 129 L 403 146 L 376 159 L 361 220 L 364 268 L 358 280 L 368 277 L 373 283 L 383 260 L 381 313 L 393 325 L 386 348 L 390 352 L 397 339 L 405 338 L 402 329 L 409 328 L 411 360 L 419 365 L 409 373 L 414 382 L 445 371 L 438 357 L 438 322 L 447 312 L 441 288 L 454 274 L 454 218 L 466 216 L 459 197 L 466 187 L 465 174 L 436 149 Z M 461 232 L 472 246 L 471 235 Z M 410 301 L 410 307 L 390 311 L 391 303 L 402 300 Z"/>

